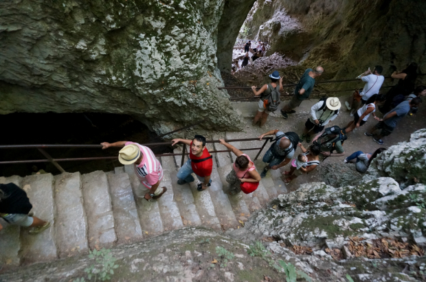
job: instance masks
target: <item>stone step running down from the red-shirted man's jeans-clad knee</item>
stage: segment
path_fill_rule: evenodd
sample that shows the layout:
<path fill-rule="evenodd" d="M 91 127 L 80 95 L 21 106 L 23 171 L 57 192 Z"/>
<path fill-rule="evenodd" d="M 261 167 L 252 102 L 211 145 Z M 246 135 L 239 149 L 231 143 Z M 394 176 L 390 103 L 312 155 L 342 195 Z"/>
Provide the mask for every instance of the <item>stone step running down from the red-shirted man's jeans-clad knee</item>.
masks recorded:
<path fill-rule="evenodd" d="M 190 185 L 188 183 L 184 185 L 177 184 L 177 172 L 172 172 L 171 176 L 175 202 L 177 202 L 177 207 L 179 207 L 183 225 L 201 225 L 200 216 L 195 207 L 194 196 L 192 196 Z"/>

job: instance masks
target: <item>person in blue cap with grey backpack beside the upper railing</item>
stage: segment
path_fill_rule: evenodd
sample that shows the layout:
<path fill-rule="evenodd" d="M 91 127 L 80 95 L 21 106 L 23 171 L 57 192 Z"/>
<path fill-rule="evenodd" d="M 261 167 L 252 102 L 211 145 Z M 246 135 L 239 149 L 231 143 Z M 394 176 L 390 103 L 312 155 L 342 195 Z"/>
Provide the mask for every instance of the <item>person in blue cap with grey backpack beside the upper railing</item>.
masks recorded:
<path fill-rule="evenodd" d="M 280 73 L 274 71 L 269 75 L 269 78 L 271 78 L 271 83 L 263 85 L 259 91 L 256 91 L 256 86 L 251 86 L 255 96 L 261 95 L 258 113 L 256 113 L 252 123 L 254 126 L 260 121 L 259 126 L 262 127 L 266 123 L 269 113 L 277 110 L 281 102 L 282 78 L 280 78 Z M 279 85 L 277 84 L 278 80 Z"/>

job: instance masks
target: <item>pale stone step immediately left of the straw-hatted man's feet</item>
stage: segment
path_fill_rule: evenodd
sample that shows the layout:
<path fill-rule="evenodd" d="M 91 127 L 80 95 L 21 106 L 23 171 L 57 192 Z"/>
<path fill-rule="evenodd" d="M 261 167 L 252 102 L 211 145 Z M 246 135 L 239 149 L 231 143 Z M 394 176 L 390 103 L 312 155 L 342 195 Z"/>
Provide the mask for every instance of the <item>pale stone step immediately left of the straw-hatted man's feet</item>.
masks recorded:
<path fill-rule="evenodd" d="M 128 174 L 108 174 L 118 244 L 140 241 L 142 228 Z"/>

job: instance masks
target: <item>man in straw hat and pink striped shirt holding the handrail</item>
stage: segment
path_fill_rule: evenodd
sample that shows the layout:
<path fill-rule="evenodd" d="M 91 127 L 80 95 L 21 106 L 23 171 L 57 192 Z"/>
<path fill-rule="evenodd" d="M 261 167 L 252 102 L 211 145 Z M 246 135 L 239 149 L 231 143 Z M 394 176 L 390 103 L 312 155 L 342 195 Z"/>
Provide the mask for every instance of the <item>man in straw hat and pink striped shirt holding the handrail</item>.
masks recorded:
<path fill-rule="evenodd" d="M 135 191 L 137 197 L 145 200 L 157 200 L 166 193 L 166 187 L 159 187 L 163 178 L 163 167 L 150 148 L 130 141 L 103 142 L 100 145 L 103 150 L 111 147 L 124 147 L 118 152 L 118 161 L 123 165 L 133 164 L 135 174 L 140 181 L 139 187 Z"/>

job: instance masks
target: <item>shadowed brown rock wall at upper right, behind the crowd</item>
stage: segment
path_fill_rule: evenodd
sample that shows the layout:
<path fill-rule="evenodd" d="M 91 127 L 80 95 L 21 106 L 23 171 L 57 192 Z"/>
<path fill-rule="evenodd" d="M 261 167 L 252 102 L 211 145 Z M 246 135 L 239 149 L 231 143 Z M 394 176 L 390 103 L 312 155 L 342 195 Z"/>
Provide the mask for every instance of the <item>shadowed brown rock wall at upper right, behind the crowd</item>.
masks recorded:
<path fill-rule="evenodd" d="M 269 54 L 322 64 L 324 80 L 355 78 L 376 64 L 390 75 L 413 61 L 426 73 L 425 1 L 258 0 L 244 25 L 250 38 L 269 42 Z"/>

